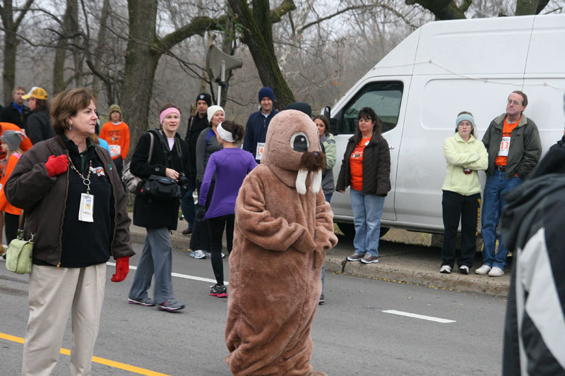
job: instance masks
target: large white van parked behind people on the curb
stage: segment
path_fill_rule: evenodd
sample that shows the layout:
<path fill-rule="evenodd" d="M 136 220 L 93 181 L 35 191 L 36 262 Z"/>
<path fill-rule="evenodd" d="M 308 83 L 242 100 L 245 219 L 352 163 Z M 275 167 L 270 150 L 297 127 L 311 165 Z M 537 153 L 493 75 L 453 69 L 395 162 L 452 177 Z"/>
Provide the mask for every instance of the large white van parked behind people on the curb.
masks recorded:
<path fill-rule="evenodd" d="M 472 112 L 482 139 L 513 90 L 528 95 L 525 115 L 540 130 L 543 155 L 564 131 L 565 15 L 428 23 L 331 108 L 338 157 L 334 178 L 359 110 L 372 107 L 391 151 L 392 190 L 381 226 L 441 233 L 442 150 L 456 130 L 457 114 Z M 480 176 L 484 183 L 484 173 Z M 345 195 L 333 193 L 331 206 L 340 229 L 355 233 L 349 188 Z"/>

